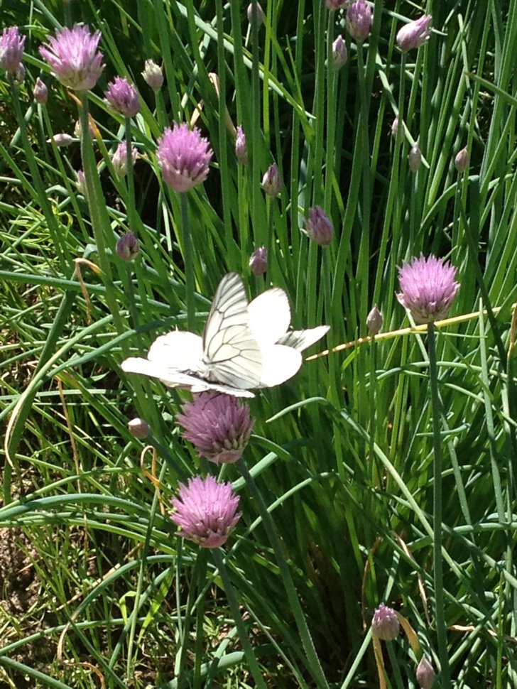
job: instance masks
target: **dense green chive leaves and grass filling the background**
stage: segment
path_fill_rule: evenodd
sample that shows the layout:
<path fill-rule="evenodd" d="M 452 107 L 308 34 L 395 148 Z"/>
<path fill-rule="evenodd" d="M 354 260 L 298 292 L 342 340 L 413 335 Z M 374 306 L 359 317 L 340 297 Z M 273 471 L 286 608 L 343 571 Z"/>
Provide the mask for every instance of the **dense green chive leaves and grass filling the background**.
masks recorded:
<path fill-rule="evenodd" d="M 223 467 L 243 516 L 215 557 L 180 542 L 167 514 L 178 481 L 207 471 L 175 423 L 189 395 L 119 368 L 158 334 L 187 328 L 189 303 L 201 332 L 227 271 L 243 276 L 250 297 L 285 289 L 294 327 L 332 326 L 309 354 L 365 337 L 374 303 L 384 332 L 405 327 L 397 268 L 422 252 L 457 267 L 451 315 L 474 314 L 436 333 L 448 686 L 517 684 L 517 3 L 376 1 L 362 47 L 320 0 L 263 9 L 253 29 L 235 0 L 33 0 L 3 10 L 3 26 L 27 36 L 27 75 L 18 98 L 0 80 L 0 526 L 20 527 L 31 544 L 31 596 L 26 609 L 0 609 L 2 687 L 82 689 L 101 676 L 110 689 L 373 687 L 369 624 L 380 602 L 408 619 L 437 667 L 425 333 L 305 362 L 257 394 L 244 464 L 274 528 L 246 472 Z M 424 11 L 432 36 L 403 58 L 396 31 Z M 66 16 L 102 31 L 106 67 L 88 94 L 99 130 L 91 210 L 75 185 L 88 166 L 80 143 L 47 142 L 80 119 L 38 53 Z M 337 33 L 349 61 L 333 72 Z M 147 58 L 163 63 L 156 97 L 141 77 Z M 31 97 L 38 75 L 49 86 L 44 108 Z M 116 75 L 141 95 L 132 180 L 117 178 L 109 159 L 126 127 L 103 101 Z M 214 159 L 182 215 L 156 140 L 196 112 Z M 406 135 L 395 141 L 399 113 Z M 236 162 L 227 114 L 244 126 L 247 166 Z M 413 174 L 417 139 L 423 163 Z M 460 175 L 464 146 L 470 167 Z M 273 162 L 283 190 L 270 199 L 260 183 Z M 325 251 L 301 231 L 312 205 L 334 224 Z M 141 243 L 129 265 L 114 254 L 126 229 Z M 254 278 L 249 256 L 261 244 L 268 272 Z M 84 289 L 75 259 L 91 262 L 79 265 Z M 127 430 L 134 416 L 151 425 L 154 449 L 143 452 Z M 143 471 L 153 457 L 159 493 Z M 6 598 L 17 576 L 3 580 Z M 404 634 L 383 655 L 388 687 L 415 686 L 418 658 Z"/>

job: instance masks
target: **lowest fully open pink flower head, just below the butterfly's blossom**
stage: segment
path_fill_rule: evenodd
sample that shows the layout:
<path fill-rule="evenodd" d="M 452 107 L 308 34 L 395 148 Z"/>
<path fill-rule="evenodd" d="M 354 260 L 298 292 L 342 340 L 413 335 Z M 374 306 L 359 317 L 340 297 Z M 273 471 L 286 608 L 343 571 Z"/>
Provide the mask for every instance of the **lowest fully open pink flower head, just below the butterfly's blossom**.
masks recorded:
<path fill-rule="evenodd" d="M 241 517 L 239 497 L 231 483 L 217 483 L 213 476 L 196 476 L 180 483 L 179 497 L 173 498 L 170 519 L 178 524 L 178 536 L 202 548 L 219 548 Z"/>

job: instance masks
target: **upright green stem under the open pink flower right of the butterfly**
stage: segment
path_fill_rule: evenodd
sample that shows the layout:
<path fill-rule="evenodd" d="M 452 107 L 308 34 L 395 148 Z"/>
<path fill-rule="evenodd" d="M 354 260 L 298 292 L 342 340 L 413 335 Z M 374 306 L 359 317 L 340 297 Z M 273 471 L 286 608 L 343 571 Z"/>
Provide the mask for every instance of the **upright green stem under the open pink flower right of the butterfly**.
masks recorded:
<path fill-rule="evenodd" d="M 438 369 L 436 362 L 436 337 L 434 323 L 428 324 L 429 379 L 431 387 L 432 447 L 433 462 L 433 570 L 435 585 L 435 622 L 440 658 L 442 689 L 452 687 L 450 680 L 449 655 L 447 653 L 447 629 L 445 626 L 445 596 L 443 590 L 442 558 L 442 438 L 440 435 L 441 404 L 438 392 Z"/>

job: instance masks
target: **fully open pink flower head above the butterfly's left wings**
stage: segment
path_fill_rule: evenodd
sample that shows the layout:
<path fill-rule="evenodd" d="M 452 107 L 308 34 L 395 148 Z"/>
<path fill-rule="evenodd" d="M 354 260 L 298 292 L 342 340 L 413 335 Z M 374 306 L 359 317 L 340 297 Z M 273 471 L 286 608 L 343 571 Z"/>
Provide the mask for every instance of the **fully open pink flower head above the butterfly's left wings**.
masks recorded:
<path fill-rule="evenodd" d="M 174 124 L 158 139 L 158 163 L 165 184 L 177 192 L 189 191 L 205 181 L 214 152 L 197 127 Z"/>

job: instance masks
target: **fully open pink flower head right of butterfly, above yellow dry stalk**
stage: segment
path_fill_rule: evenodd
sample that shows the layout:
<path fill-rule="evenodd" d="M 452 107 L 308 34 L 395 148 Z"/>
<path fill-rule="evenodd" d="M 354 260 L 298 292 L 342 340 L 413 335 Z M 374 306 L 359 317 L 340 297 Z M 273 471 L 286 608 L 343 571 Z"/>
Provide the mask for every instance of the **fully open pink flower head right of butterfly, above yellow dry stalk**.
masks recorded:
<path fill-rule="evenodd" d="M 413 316 L 415 323 L 431 323 L 447 316 L 459 290 L 456 268 L 443 259 L 429 256 L 403 262 L 398 269 L 401 293 L 399 302 Z"/>

